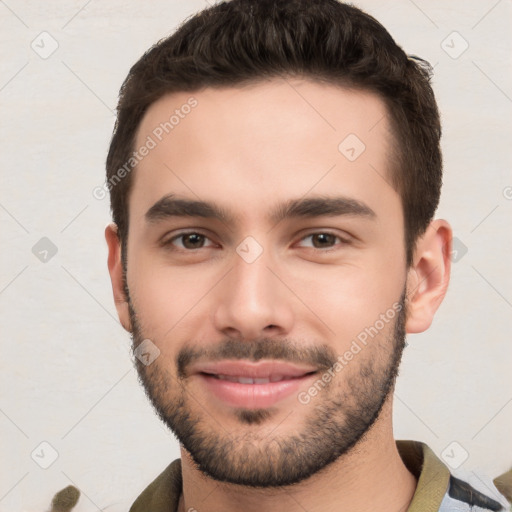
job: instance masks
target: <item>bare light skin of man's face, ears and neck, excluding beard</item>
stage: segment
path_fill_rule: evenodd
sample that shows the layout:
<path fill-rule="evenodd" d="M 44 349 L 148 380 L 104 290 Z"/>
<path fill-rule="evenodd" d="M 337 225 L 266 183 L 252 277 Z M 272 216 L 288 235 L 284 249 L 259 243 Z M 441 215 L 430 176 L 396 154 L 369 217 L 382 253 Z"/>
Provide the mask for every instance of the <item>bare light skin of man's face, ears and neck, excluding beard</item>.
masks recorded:
<path fill-rule="evenodd" d="M 407 333 L 428 329 L 448 286 L 451 229 L 443 220 L 433 221 L 407 268 L 401 201 L 388 184 L 392 138 L 377 96 L 281 79 L 174 93 L 149 108 L 136 147 L 190 96 L 198 106 L 137 165 L 129 197 L 126 285 L 138 327 L 160 350 L 153 368 L 176 381 L 180 349 L 216 347 L 226 339 L 288 339 L 343 354 L 404 290 Z M 366 146 L 353 162 L 338 151 L 350 133 Z M 233 222 L 197 217 L 148 222 L 146 212 L 170 193 L 215 202 L 233 214 Z M 277 224 L 268 219 L 276 204 L 333 195 L 359 201 L 375 215 L 291 218 Z M 167 247 L 159 244 L 185 229 L 206 234 L 205 247 L 187 252 L 183 239 Z M 325 232 L 341 238 L 315 247 L 308 235 Z M 119 319 L 133 332 L 116 226 L 110 224 L 105 235 Z M 252 263 L 236 252 L 247 236 L 263 249 Z M 309 404 L 287 397 L 259 424 L 242 422 L 196 378 L 185 381 L 186 393 L 195 397 L 190 407 L 208 432 L 238 443 L 249 436 L 256 450 L 266 446 L 269 436 L 286 439 L 305 428 L 315 404 L 348 392 L 350 378 L 364 364 L 389 365 L 392 334 L 390 322 L 323 396 Z M 170 401 L 177 396 L 172 389 L 165 396 Z M 216 481 L 197 468 L 181 445 L 179 510 L 274 511 L 283 505 L 290 512 L 406 510 L 417 482 L 396 449 L 392 406 L 391 392 L 353 449 L 294 486 L 264 489 Z"/>

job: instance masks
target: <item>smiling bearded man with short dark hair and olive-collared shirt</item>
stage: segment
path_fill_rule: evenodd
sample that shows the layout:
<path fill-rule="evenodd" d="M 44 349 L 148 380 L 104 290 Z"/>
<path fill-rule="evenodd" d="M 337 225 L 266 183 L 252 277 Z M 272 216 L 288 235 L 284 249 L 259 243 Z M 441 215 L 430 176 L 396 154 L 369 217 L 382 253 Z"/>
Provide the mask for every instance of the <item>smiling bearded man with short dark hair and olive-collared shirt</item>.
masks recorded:
<path fill-rule="evenodd" d="M 133 512 L 505 510 L 393 437 L 450 276 L 429 71 L 335 0 L 217 4 L 130 70 L 108 267 L 182 455 Z"/>

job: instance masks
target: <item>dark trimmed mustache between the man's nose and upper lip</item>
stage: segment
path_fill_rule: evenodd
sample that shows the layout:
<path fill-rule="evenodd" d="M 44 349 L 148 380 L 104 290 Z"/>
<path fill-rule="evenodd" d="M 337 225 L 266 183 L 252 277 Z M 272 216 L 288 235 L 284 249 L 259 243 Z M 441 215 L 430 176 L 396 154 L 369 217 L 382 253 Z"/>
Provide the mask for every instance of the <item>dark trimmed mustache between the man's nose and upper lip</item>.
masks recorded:
<path fill-rule="evenodd" d="M 176 355 L 178 377 L 188 375 L 190 365 L 199 361 L 221 361 L 226 359 L 278 359 L 289 363 L 305 363 L 319 370 L 331 368 L 337 361 L 337 354 L 328 345 L 299 346 L 289 340 L 262 338 L 255 341 L 223 340 L 215 347 L 183 347 Z"/>

